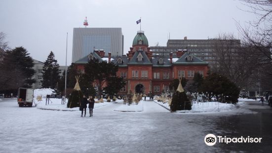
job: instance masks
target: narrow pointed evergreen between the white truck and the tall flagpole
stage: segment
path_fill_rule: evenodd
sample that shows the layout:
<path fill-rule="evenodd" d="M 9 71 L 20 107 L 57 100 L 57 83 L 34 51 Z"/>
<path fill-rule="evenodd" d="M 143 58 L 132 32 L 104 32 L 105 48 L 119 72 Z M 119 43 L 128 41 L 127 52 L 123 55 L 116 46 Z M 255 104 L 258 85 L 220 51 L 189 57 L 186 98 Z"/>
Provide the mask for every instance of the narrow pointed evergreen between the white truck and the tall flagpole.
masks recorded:
<path fill-rule="evenodd" d="M 42 68 L 42 87 L 54 89 L 57 85 L 57 82 L 60 79 L 59 75 L 59 64 L 57 60 L 55 60 L 55 55 L 51 51 L 44 62 L 44 66 Z"/>

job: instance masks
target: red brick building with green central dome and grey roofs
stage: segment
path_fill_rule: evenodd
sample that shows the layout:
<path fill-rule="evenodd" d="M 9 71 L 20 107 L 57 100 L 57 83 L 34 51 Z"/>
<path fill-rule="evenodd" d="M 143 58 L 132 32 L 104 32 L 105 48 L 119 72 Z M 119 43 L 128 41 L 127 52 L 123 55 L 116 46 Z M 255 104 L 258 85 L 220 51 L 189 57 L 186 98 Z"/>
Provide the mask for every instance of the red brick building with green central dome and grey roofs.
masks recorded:
<path fill-rule="evenodd" d="M 117 76 L 127 81 L 119 94 L 134 92 L 155 94 L 162 90 L 168 90 L 169 84 L 174 78 L 186 77 L 193 79 L 194 73 L 207 75 L 208 63 L 195 57 L 187 50 L 177 50 L 177 57 L 173 53 L 169 56 L 153 56 L 148 45 L 148 39 L 143 32 L 138 32 L 133 39 L 132 47 L 126 55 L 111 57 L 111 53 L 105 57 L 104 50 L 94 50 L 88 56 L 75 62 L 78 69 L 84 72 L 84 64 L 89 60 L 113 62 L 118 65 Z M 94 84 L 96 85 L 96 84 Z"/>

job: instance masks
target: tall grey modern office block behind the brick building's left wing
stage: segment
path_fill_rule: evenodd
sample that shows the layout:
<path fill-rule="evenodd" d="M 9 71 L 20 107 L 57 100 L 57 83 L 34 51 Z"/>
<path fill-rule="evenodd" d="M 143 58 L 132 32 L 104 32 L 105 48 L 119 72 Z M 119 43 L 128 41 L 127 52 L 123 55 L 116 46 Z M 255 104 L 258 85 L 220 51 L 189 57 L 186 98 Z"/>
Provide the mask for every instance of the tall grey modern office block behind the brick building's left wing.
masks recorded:
<path fill-rule="evenodd" d="M 104 50 L 112 55 L 123 54 L 121 28 L 74 28 L 72 62 L 76 62 L 93 50 Z"/>

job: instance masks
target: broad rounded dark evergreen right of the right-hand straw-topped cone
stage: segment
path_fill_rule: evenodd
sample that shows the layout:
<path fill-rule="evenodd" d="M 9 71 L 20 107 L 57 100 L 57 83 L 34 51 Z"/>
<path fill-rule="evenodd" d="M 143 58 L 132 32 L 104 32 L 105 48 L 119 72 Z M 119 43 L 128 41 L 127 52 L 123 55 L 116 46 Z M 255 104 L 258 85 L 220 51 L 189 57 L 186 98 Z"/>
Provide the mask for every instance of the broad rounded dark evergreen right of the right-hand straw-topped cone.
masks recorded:
<path fill-rule="evenodd" d="M 212 73 L 207 76 L 201 86 L 199 92 L 213 93 L 213 95 L 229 96 L 232 103 L 236 103 L 239 97 L 238 87 L 227 77 Z"/>

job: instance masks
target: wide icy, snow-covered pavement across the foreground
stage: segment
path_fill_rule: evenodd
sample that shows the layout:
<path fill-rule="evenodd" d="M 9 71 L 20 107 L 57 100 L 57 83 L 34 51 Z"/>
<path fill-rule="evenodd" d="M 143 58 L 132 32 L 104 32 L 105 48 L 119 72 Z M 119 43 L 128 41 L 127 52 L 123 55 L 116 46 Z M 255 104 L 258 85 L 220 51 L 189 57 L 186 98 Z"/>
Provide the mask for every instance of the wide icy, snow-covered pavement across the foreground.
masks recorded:
<path fill-rule="evenodd" d="M 19 108 L 16 100 L 0 101 L 0 153 L 181 153 L 271 150 L 271 118 L 264 114 L 170 113 L 143 102 L 143 112 L 117 112 L 116 103 L 94 109 L 93 117 L 79 111 Z M 249 114 L 248 114 L 249 113 Z M 237 115 L 239 114 L 239 115 Z M 269 114 L 271 115 L 271 114 Z M 241 124 L 242 123 L 242 124 Z M 206 146 L 206 134 L 259 135 L 262 144 Z M 267 135 L 267 136 L 266 136 Z M 252 149 L 257 150 L 252 150 Z"/>

